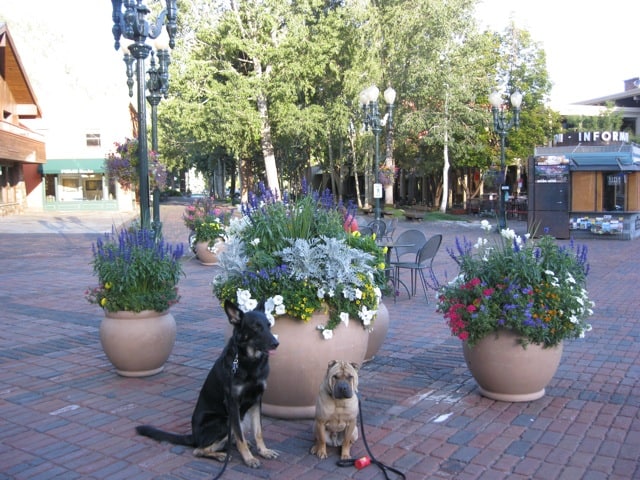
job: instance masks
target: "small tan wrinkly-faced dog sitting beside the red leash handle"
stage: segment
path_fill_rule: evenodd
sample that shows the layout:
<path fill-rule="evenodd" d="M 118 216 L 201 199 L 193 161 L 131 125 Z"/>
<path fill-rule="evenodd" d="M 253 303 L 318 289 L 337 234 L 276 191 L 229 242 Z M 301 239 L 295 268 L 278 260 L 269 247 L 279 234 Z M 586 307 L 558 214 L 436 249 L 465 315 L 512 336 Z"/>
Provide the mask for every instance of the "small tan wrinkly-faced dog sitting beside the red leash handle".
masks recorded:
<path fill-rule="evenodd" d="M 316 402 L 315 443 L 310 452 L 327 458 L 327 445 L 342 447 L 340 458 L 351 457 L 358 439 L 358 369 L 356 363 L 332 360 Z"/>

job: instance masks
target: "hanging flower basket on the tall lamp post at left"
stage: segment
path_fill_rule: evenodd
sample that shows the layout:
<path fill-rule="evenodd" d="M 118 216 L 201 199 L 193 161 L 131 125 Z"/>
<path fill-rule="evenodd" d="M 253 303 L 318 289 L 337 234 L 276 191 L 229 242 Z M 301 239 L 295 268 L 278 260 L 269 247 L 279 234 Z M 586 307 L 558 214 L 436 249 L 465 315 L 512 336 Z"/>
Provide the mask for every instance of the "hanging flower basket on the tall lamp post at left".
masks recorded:
<path fill-rule="evenodd" d="M 115 151 L 105 159 L 105 170 L 110 178 L 116 178 L 125 190 L 132 190 L 140 183 L 138 178 L 138 140 L 126 138 L 123 143 L 115 142 Z M 158 159 L 158 154 L 149 151 L 149 186 L 163 188 L 167 183 L 167 169 Z"/>

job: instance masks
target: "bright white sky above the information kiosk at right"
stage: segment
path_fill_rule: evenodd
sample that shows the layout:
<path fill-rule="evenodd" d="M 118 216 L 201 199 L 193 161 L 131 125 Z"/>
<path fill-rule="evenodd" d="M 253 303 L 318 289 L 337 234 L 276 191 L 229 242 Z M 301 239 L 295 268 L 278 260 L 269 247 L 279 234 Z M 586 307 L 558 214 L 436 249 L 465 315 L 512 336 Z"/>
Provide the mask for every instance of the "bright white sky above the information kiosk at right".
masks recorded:
<path fill-rule="evenodd" d="M 619 93 L 640 76 L 638 0 L 480 0 L 476 18 L 500 32 L 513 18 L 541 43 L 552 105 Z"/>

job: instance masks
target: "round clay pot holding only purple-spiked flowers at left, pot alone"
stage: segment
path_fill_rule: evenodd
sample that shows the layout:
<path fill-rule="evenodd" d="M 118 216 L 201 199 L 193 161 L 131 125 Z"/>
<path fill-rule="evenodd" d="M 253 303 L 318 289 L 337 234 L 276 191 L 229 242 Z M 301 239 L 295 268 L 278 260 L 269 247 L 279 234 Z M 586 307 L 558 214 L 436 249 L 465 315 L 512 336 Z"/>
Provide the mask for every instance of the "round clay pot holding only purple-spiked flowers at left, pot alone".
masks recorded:
<path fill-rule="evenodd" d="M 175 339 L 176 321 L 168 311 L 105 312 L 100 324 L 104 353 L 124 377 L 161 372 Z"/>

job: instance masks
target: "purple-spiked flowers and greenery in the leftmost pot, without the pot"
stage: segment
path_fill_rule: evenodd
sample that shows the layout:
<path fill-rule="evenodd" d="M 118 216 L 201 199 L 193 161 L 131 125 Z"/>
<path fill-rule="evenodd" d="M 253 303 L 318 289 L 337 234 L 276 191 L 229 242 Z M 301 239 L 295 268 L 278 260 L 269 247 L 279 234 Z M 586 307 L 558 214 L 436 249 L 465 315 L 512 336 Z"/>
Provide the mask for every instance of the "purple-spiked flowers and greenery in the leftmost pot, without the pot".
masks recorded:
<path fill-rule="evenodd" d="M 92 252 L 98 286 L 86 292 L 90 303 L 107 312 L 163 312 L 178 303 L 181 243 L 165 243 L 153 230 L 114 228 L 106 238 L 98 238 Z"/>

